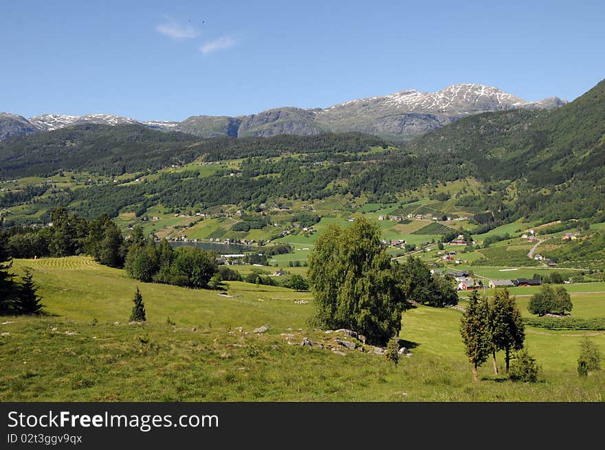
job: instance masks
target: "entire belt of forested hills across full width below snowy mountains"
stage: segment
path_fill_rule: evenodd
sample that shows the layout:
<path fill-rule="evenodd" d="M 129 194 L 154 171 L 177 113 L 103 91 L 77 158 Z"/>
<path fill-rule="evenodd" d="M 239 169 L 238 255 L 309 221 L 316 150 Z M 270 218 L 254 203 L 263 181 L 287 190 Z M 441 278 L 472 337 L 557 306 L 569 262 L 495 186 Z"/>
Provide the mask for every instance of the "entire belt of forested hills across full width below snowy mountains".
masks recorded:
<path fill-rule="evenodd" d="M 98 183 L 46 196 L 41 188 L 9 190 L 0 205 L 35 200 L 36 207 L 71 206 L 90 218 L 115 216 L 126 206 L 254 207 L 269 197 L 340 194 L 389 203 L 423 185 L 474 177 L 479 192 L 451 194 L 486 229 L 522 217 L 605 221 L 604 135 L 605 81 L 559 109 L 472 115 L 399 146 L 360 133 L 200 139 L 139 125 L 88 124 L 6 139 L 0 178 L 60 170 L 155 175 L 144 183 Z M 237 161 L 235 172 L 158 172 L 226 160 Z"/>

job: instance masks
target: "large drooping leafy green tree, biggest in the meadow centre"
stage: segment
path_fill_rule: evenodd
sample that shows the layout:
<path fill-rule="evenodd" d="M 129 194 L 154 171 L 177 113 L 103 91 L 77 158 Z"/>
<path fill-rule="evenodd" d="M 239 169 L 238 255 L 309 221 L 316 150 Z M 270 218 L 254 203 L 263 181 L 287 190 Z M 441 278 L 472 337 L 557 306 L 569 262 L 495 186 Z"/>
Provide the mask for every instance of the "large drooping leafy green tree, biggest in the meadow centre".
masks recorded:
<path fill-rule="evenodd" d="M 351 328 L 384 345 L 399 335 L 407 304 L 380 237 L 366 218 L 347 229 L 329 227 L 311 252 L 309 286 L 320 326 Z"/>

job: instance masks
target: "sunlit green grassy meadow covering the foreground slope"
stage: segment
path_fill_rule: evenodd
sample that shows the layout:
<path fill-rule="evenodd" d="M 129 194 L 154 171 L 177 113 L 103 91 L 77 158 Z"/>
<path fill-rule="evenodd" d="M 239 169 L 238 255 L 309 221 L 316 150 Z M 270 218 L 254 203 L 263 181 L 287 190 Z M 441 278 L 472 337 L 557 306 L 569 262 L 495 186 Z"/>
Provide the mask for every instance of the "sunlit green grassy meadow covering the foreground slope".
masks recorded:
<path fill-rule="evenodd" d="M 82 256 L 14 261 L 16 273 L 23 267 L 34 269 L 47 315 L 0 317 L 0 401 L 602 401 L 605 393 L 605 371 L 586 379 L 575 371 L 581 337 L 605 353 L 605 333 L 528 328 L 540 381 L 513 383 L 488 361 L 473 383 L 454 308 L 406 311 L 400 339 L 411 355 L 395 366 L 370 346 L 348 350 L 333 341 L 346 336 L 309 328 L 308 292 L 229 282 L 223 296 L 146 284 Z M 129 324 L 137 286 L 144 325 Z M 528 300 L 518 300 L 524 315 Z M 605 316 L 605 295 L 572 300 L 577 317 Z M 252 332 L 264 324 L 266 333 Z M 300 346 L 303 337 L 325 348 Z"/>

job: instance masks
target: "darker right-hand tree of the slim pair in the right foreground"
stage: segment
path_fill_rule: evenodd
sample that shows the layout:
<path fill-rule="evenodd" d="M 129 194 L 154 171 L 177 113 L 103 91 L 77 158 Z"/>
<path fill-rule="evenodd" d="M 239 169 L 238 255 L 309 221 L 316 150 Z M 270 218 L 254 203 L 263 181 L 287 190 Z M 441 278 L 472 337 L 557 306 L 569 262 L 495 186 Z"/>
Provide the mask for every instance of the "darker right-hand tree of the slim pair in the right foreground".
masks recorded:
<path fill-rule="evenodd" d="M 498 374 L 496 350 L 504 350 L 506 372 L 508 373 L 511 350 L 518 351 L 523 348 L 525 326 L 516 299 L 510 296 L 506 288 L 496 289 L 494 298 L 489 302 L 489 334 L 493 345 L 494 373 Z"/>

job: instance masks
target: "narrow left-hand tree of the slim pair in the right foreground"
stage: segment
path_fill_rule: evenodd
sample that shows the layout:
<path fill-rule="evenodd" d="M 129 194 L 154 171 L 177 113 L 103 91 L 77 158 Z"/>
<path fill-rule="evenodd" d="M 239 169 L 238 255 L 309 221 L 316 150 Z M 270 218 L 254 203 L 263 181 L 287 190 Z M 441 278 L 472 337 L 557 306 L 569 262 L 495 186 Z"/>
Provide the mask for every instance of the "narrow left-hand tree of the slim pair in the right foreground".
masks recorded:
<path fill-rule="evenodd" d="M 481 298 L 474 290 L 462 314 L 460 334 L 468 361 L 473 365 L 473 380 L 477 381 L 477 368 L 485 363 L 492 352 L 489 339 L 489 306 L 487 299 Z"/>

